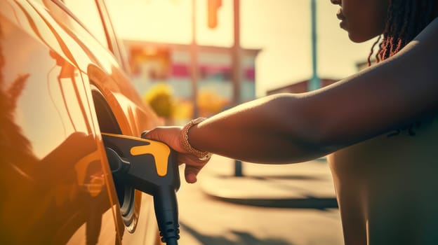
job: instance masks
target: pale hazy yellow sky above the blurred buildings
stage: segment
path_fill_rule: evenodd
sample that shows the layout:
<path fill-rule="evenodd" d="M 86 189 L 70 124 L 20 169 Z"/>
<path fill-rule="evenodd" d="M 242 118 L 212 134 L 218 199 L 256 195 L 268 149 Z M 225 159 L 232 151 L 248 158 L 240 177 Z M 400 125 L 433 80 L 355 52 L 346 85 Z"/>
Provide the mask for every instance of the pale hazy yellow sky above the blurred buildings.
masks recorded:
<path fill-rule="evenodd" d="M 233 0 L 223 0 L 218 27 L 207 27 L 207 0 L 107 0 L 121 38 L 166 43 L 192 41 L 192 1 L 196 1 L 196 40 L 200 45 L 231 46 Z M 357 71 L 373 40 L 352 43 L 340 29 L 330 0 L 317 0 L 317 71 L 320 78 L 342 79 Z M 255 60 L 258 97 L 267 90 L 312 76 L 310 0 L 241 0 L 241 47 L 261 49 Z M 134 27 L 134 28 L 131 28 Z"/>

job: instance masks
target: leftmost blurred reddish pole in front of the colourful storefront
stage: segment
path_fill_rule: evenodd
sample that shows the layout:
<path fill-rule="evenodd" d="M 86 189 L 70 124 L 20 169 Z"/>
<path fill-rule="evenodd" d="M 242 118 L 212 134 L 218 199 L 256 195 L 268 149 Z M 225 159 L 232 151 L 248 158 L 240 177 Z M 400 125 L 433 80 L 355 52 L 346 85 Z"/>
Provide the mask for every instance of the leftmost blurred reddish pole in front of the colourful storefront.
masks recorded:
<path fill-rule="evenodd" d="M 192 80 L 192 103 L 193 103 L 193 118 L 199 117 L 198 109 L 198 50 L 196 41 L 196 0 L 192 0 L 192 43 L 190 45 L 190 78 Z"/>

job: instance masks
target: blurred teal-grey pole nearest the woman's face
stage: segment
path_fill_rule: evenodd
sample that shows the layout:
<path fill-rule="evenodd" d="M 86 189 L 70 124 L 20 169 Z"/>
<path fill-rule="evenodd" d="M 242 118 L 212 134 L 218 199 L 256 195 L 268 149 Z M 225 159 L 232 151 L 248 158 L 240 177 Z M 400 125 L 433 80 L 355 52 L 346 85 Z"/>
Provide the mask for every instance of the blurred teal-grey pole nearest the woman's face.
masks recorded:
<path fill-rule="evenodd" d="M 316 0 L 311 0 L 310 13 L 312 22 L 312 78 L 310 79 L 307 90 L 317 90 L 321 87 L 321 80 L 318 77 L 317 70 L 317 3 Z"/>

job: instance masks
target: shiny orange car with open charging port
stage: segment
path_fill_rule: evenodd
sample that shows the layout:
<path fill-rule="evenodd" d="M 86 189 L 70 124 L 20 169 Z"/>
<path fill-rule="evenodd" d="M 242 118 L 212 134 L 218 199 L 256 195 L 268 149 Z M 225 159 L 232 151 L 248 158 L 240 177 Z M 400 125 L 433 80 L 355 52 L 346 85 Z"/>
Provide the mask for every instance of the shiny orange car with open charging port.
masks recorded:
<path fill-rule="evenodd" d="M 103 0 L 0 1 L 0 244 L 160 244 L 102 144 L 158 125 L 126 73 Z"/>

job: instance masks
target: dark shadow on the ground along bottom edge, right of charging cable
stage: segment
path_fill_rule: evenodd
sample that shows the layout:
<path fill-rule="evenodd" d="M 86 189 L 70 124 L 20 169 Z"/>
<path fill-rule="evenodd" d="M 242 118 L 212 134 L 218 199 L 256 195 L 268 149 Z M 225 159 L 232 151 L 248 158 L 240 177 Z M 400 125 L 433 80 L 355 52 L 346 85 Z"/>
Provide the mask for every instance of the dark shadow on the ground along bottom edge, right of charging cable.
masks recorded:
<path fill-rule="evenodd" d="M 267 239 L 259 239 L 258 237 L 254 237 L 252 234 L 248 232 L 239 232 L 237 230 L 231 230 L 230 233 L 232 237 L 235 239 L 229 239 L 227 237 L 220 236 L 208 236 L 204 235 L 197 230 L 194 230 L 189 225 L 185 225 L 184 223 L 180 223 L 181 228 L 185 229 L 190 235 L 192 235 L 195 239 L 197 239 L 201 244 L 208 245 L 293 245 L 288 243 L 287 241 L 276 239 L 276 238 L 267 238 Z"/>

